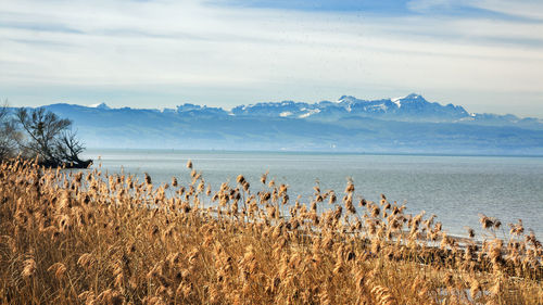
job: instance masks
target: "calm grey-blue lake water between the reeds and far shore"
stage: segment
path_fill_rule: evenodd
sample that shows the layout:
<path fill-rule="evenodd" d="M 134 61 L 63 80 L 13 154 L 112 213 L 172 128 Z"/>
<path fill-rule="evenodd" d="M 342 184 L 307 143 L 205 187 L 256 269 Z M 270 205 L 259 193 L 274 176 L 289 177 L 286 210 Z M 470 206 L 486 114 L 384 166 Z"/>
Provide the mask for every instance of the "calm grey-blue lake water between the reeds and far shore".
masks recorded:
<path fill-rule="evenodd" d="M 187 185 L 190 158 L 212 190 L 224 181 L 233 186 L 239 174 L 253 191 L 260 190 L 260 177 L 269 170 L 269 178 L 289 185 L 292 202 L 302 195 L 304 203 L 317 183 L 323 191 L 336 190 L 340 198 L 352 178 L 357 196 L 378 201 L 383 193 L 390 202 L 405 202 L 407 213 L 435 214 L 452 234 L 465 236 L 466 227 L 479 229 L 478 215 L 485 214 L 504 225 L 520 218 L 527 230 L 543 237 L 543 157 L 159 150 L 89 150 L 86 156 L 109 173 L 143 177 L 147 171 L 155 185 L 174 176 Z"/>

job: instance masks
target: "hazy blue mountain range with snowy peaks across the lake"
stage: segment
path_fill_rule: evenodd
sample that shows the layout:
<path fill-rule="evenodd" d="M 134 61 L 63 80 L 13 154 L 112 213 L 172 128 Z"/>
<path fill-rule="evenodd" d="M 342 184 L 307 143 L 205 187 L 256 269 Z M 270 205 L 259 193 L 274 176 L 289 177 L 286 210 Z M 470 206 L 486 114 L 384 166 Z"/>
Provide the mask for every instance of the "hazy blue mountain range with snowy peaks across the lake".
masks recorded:
<path fill-rule="evenodd" d="M 415 93 L 231 110 L 189 103 L 162 110 L 104 103 L 45 107 L 72 119 L 88 148 L 543 154 L 542 119 L 469 113 Z"/>

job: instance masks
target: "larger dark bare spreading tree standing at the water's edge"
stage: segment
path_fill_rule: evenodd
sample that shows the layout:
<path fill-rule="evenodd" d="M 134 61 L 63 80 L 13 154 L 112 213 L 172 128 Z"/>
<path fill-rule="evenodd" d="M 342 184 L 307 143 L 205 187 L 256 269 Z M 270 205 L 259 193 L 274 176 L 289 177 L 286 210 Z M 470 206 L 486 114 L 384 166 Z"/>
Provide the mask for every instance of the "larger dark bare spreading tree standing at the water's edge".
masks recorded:
<path fill-rule="evenodd" d="M 31 156 L 38 156 L 46 166 L 87 167 L 91 161 L 81 161 L 85 150 L 76 135 L 70 131 L 72 122 L 60 118 L 46 109 L 18 109 L 16 120 L 28 139 L 21 147 Z"/>

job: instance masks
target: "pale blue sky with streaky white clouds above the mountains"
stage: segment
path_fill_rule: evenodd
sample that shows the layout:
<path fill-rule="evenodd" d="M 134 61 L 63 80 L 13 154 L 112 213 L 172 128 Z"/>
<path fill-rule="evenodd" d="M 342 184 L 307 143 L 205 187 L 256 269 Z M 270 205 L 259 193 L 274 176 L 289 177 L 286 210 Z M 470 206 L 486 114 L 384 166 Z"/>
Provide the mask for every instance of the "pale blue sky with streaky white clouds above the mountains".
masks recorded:
<path fill-rule="evenodd" d="M 396 98 L 543 117 L 541 0 L 0 0 L 0 99 Z"/>

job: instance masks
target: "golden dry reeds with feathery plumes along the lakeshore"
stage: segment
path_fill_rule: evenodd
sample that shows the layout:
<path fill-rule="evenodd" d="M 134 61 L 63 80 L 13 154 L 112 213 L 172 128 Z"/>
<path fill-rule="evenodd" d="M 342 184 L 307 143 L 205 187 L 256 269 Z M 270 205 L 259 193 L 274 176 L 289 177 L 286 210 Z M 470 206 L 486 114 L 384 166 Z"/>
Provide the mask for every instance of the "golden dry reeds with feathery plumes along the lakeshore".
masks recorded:
<path fill-rule="evenodd" d="M 192 181 L 153 186 L 1 164 L 0 302 L 543 304 L 543 249 L 521 223 L 498 239 L 507 225 L 482 216 L 485 237 L 457 239 L 351 182 L 303 202 L 265 175 L 212 190 L 187 166 Z"/>

